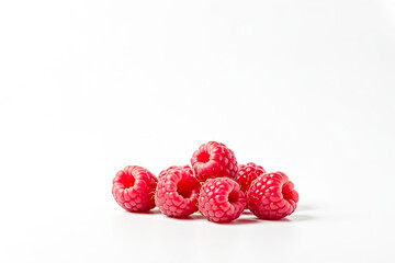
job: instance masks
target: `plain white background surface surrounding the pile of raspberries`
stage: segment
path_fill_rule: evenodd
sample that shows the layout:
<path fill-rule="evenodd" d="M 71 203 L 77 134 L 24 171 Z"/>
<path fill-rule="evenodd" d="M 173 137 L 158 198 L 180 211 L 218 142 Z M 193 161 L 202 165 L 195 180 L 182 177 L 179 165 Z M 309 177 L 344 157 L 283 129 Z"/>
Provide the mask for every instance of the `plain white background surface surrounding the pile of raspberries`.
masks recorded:
<path fill-rule="evenodd" d="M 392 262 L 394 1 L 1 1 L 1 262 Z M 116 205 L 208 140 L 285 172 L 281 221 Z"/>

